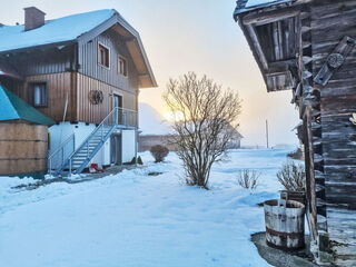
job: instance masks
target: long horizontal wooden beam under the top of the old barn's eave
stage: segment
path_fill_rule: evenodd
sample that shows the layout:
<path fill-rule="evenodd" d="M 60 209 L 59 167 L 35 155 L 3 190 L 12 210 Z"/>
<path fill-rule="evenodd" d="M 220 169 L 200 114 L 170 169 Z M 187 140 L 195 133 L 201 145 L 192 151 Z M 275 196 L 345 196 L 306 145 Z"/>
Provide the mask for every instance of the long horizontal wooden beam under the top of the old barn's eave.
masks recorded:
<path fill-rule="evenodd" d="M 276 22 L 278 20 L 289 19 L 298 16 L 299 13 L 300 13 L 299 8 L 281 9 L 277 11 L 268 11 L 268 12 L 261 12 L 261 13 L 249 13 L 243 18 L 243 23 L 246 26 L 248 24 L 261 26 L 261 24 Z"/>

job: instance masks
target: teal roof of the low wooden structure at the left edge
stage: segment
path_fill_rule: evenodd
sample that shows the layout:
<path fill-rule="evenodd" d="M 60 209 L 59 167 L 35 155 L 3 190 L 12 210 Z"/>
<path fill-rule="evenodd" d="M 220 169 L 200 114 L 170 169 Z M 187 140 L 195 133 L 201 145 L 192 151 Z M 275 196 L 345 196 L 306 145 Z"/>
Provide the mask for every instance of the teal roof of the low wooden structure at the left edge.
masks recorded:
<path fill-rule="evenodd" d="M 21 119 L 46 126 L 56 123 L 0 85 L 0 121 Z"/>

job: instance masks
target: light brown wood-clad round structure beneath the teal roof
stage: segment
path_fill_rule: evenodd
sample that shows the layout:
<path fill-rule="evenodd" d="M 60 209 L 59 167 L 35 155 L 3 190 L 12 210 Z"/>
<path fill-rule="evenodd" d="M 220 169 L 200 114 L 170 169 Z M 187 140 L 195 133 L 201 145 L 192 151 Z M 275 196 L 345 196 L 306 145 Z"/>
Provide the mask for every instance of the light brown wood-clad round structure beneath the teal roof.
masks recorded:
<path fill-rule="evenodd" d="M 34 176 L 47 171 L 47 126 L 0 123 L 0 176 Z"/>

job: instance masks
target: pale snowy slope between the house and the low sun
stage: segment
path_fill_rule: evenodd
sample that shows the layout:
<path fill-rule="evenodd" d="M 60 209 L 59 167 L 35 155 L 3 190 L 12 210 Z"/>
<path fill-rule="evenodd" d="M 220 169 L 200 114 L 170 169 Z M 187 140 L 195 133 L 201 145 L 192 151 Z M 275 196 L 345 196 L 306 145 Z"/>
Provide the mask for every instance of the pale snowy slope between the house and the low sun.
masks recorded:
<path fill-rule="evenodd" d="M 171 131 L 168 122 L 149 103 L 140 102 L 138 109 L 141 135 L 168 135 Z"/>

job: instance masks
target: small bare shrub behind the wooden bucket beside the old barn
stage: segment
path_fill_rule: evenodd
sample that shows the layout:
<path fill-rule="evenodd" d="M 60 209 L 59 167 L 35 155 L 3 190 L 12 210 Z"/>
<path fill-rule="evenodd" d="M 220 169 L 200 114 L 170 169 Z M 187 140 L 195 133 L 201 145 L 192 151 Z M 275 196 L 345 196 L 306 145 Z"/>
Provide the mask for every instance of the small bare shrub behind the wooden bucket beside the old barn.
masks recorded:
<path fill-rule="evenodd" d="M 305 191 L 306 177 L 301 164 L 287 161 L 277 172 L 277 178 L 288 191 Z"/>

